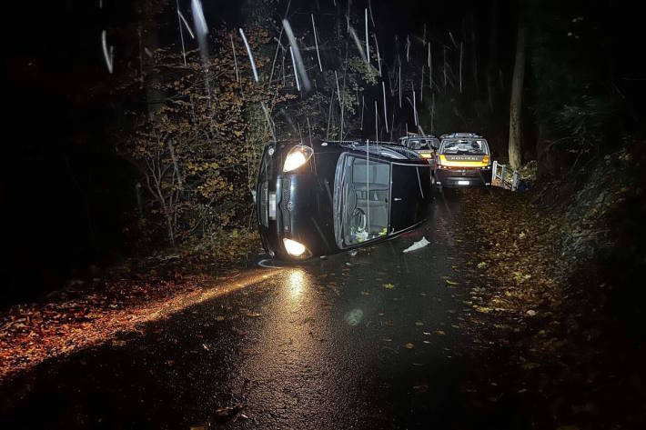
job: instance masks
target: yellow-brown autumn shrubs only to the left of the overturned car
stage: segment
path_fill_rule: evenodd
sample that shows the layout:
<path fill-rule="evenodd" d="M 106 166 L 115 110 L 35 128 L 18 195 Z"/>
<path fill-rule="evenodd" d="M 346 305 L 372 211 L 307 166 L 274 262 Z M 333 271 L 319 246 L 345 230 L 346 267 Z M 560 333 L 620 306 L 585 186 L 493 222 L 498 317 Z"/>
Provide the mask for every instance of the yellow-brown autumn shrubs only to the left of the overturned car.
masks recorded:
<path fill-rule="evenodd" d="M 258 69 L 267 71 L 270 59 L 262 49 L 270 41 L 267 30 L 248 29 L 247 38 Z M 244 45 L 235 40 L 236 58 L 229 33 L 221 30 L 217 54 L 203 62 L 191 52 L 186 66 L 181 54 L 157 51 L 164 104 L 152 117 L 137 115 L 136 133 L 119 148 L 138 168 L 151 197 L 146 217 L 164 226 L 172 244 L 177 237 L 250 224 L 257 160 L 271 135 L 260 106 L 271 112 L 293 97 L 280 83 L 255 83 L 242 61 Z"/>

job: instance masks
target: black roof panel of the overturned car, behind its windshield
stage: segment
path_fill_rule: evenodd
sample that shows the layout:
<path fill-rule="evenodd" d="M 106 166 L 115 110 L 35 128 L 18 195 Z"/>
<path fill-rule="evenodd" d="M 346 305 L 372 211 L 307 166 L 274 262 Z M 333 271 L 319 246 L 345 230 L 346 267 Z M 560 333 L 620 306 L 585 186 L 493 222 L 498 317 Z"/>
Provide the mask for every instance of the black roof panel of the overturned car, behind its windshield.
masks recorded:
<path fill-rule="evenodd" d="M 428 192 L 428 187 L 421 184 L 418 170 L 421 168 L 428 169 L 429 166 L 392 163 L 389 222 L 391 235 L 396 235 L 424 219 L 424 189 Z M 428 175 L 425 177 L 428 178 Z"/>

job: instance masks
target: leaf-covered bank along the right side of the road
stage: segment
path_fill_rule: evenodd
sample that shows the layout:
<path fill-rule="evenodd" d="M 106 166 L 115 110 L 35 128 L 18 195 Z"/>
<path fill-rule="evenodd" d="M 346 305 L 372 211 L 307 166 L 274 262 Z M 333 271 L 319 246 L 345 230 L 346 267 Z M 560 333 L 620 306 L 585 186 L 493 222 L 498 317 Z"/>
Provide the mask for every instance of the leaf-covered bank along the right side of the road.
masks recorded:
<path fill-rule="evenodd" d="M 639 199 L 641 189 L 626 186 L 639 166 L 621 152 L 529 195 L 493 188 L 461 196 L 457 242 L 475 244 L 465 247 L 469 263 L 459 270 L 474 310 L 465 328 L 491 358 L 482 375 L 499 375 L 489 401 L 518 397 L 513 402 L 531 411 L 527 425 L 646 422 L 643 344 L 613 306 L 625 285 L 602 263 L 626 244 L 630 219 L 616 217 Z"/>

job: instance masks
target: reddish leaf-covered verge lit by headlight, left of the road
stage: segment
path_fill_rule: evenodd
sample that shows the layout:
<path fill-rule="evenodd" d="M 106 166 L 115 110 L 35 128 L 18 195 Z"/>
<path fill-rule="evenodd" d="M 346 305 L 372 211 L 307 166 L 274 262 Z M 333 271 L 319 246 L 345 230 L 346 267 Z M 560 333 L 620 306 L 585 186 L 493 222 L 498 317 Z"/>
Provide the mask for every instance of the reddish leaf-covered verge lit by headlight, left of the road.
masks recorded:
<path fill-rule="evenodd" d="M 257 232 L 237 230 L 208 243 L 132 258 L 104 278 L 76 280 L 41 303 L 0 312 L 0 380 L 111 341 L 204 295 L 226 292 L 226 281 L 257 253 Z M 218 285 L 214 287 L 214 285 Z M 223 286 L 225 285 L 225 286 Z"/>

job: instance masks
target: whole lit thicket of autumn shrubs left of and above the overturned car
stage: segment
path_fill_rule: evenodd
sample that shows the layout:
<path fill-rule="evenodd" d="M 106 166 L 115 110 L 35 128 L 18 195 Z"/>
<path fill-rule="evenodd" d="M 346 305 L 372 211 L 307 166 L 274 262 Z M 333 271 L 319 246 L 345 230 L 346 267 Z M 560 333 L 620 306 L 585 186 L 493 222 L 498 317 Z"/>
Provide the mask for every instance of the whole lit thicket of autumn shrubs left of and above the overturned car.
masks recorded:
<path fill-rule="evenodd" d="M 325 68 L 319 72 L 316 57 L 304 51 L 313 87 L 298 92 L 287 37 L 278 20 L 265 19 L 276 12 L 275 3 L 252 4 L 264 11 L 248 15 L 245 25 L 259 82 L 233 30 L 217 31 L 209 41 L 217 51 L 207 60 L 190 51 L 184 65 L 177 47 L 155 53 L 156 67 L 148 75 L 156 79 L 146 86 L 156 91 L 146 94 L 162 95 L 163 104 L 154 115 L 135 115 L 135 132 L 126 132 L 118 148 L 136 165 L 146 191 L 140 227 L 151 243 L 159 235 L 175 245 L 195 235 L 207 238 L 222 229 L 255 225 L 251 191 L 267 141 L 307 141 L 308 135 L 338 139 L 341 129 L 344 138 L 359 133 L 361 97 L 378 83 L 375 67 L 361 60 L 348 35 L 321 23 Z M 311 27 L 295 33 L 298 45 L 313 42 Z"/>

